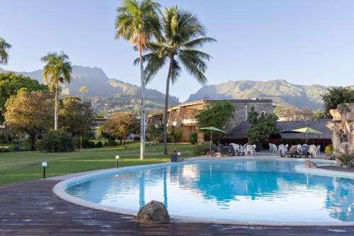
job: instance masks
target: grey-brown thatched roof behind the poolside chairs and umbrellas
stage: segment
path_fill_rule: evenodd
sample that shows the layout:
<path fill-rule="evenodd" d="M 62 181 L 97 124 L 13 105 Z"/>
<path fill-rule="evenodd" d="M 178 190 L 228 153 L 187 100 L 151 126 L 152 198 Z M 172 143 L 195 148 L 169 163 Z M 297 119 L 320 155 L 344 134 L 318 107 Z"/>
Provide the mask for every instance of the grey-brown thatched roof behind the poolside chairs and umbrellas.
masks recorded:
<path fill-rule="evenodd" d="M 295 130 L 298 128 L 310 127 L 315 130 L 319 130 L 321 134 L 309 133 L 307 137 L 309 139 L 331 139 L 332 130 L 326 127 L 327 123 L 331 120 L 288 120 L 288 121 L 278 121 L 278 130 Z M 249 123 L 242 121 L 239 125 L 236 125 L 232 130 L 229 131 L 224 137 L 242 139 L 247 137 L 247 131 L 249 130 Z M 306 139 L 306 133 L 282 133 L 280 134 L 284 139 Z"/>

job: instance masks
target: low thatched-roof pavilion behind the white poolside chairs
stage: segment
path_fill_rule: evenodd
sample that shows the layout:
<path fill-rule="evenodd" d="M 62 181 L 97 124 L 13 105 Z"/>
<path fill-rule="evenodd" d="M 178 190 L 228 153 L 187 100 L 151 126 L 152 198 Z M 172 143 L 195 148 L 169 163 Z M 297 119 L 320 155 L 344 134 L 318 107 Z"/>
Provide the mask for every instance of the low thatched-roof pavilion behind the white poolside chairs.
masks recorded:
<path fill-rule="evenodd" d="M 331 143 L 332 131 L 326 127 L 329 123 L 329 119 L 322 120 L 280 120 L 277 123 L 278 130 L 295 130 L 297 128 L 311 127 L 315 130 L 319 130 L 321 134 L 307 134 L 307 143 L 314 145 L 321 145 L 324 147 Z M 248 142 L 247 131 L 250 125 L 247 121 L 243 121 L 236 125 L 232 130 L 229 131 L 222 138 L 222 142 L 230 143 L 235 142 L 239 144 L 244 144 Z M 278 135 L 271 135 L 269 137 L 269 142 L 275 144 L 288 143 L 289 145 L 294 145 L 298 143 L 304 143 L 306 141 L 305 133 L 280 133 Z"/>

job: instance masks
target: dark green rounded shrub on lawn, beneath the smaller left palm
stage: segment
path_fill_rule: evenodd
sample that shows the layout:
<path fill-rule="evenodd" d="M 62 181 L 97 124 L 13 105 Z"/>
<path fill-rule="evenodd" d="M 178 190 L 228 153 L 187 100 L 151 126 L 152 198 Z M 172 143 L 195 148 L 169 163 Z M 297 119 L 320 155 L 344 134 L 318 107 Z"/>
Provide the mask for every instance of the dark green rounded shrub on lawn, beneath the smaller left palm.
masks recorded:
<path fill-rule="evenodd" d="M 64 130 L 50 130 L 43 137 L 45 152 L 74 152 L 75 142 L 71 133 Z"/>

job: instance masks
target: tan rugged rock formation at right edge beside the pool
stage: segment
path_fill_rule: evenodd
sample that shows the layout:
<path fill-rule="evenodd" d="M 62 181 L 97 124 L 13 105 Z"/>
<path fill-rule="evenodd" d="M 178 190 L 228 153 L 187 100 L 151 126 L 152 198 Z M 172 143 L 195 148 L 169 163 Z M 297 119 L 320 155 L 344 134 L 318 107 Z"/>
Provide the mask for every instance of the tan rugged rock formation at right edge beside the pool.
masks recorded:
<path fill-rule="evenodd" d="M 330 113 L 333 119 L 327 127 L 333 130 L 333 154 L 354 154 L 354 103 L 339 104 Z M 348 145 L 343 145 L 344 142 Z"/>

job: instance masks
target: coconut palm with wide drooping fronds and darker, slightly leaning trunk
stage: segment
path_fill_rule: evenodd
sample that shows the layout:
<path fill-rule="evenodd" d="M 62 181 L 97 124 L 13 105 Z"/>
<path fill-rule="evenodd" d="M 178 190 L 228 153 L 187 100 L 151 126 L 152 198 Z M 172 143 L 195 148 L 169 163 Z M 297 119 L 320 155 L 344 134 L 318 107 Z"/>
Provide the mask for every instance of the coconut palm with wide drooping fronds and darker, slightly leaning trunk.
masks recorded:
<path fill-rule="evenodd" d="M 164 154 L 167 154 L 167 113 L 170 83 L 176 82 L 181 75 L 182 67 L 184 67 L 200 84 L 205 84 L 207 82 L 205 60 L 209 61 L 212 57 L 198 49 L 205 43 L 212 43 L 216 40 L 206 37 L 205 27 L 193 13 L 178 10 L 177 6 L 165 9 L 161 18 L 163 35 L 159 37 L 157 42 L 149 43 L 149 50 L 152 52 L 144 55 L 142 60 L 147 62 L 145 68 L 147 82 L 150 82 L 159 69 L 169 62 L 164 111 Z"/>

